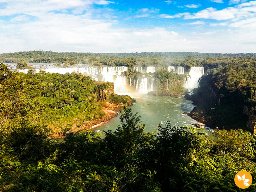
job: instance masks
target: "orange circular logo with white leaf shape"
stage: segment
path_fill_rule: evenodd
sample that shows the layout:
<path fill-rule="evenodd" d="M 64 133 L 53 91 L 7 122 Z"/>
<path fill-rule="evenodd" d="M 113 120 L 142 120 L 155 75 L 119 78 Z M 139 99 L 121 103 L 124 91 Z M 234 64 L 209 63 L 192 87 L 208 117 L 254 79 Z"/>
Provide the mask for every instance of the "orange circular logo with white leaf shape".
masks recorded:
<path fill-rule="evenodd" d="M 252 183 L 252 176 L 247 171 L 240 171 L 235 176 L 235 183 L 239 188 L 246 189 Z"/>

